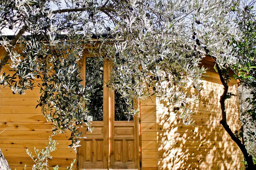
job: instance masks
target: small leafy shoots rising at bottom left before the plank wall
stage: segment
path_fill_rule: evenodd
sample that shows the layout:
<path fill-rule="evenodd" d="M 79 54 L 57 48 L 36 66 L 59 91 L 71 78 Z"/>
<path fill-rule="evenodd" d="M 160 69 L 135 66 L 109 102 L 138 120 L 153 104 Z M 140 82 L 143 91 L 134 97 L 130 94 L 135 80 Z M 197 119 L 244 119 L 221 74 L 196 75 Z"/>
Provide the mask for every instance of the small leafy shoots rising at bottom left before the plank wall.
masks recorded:
<path fill-rule="evenodd" d="M 51 136 L 52 137 L 52 136 Z M 51 156 L 51 152 L 55 151 L 56 148 L 56 141 L 52 140 L 52 138 L 49 137 L 49 142 L 47 144 L 47 146 L 45 147 L 45 149 L 34 149 L 35 151 L 35 156 L 32 155 L 32 152 L 27 150 L 27 154 L 31 157 L 31 159 L 35 162 L 35 164 L 32 166 L 32 170 L 48 170 L 48 159 L 52 159 Z M 72 166 L 75 163 L 75 159 L 74 161 L 70 164 L 70 167 L 67 167 L 67 170 L 72 170 Z M 26 170 L 26 165 L 25 165 L 25 170 Z M 59 166 L 55 166 L 53 167 L 53 170 L 58 170 Z"/>

